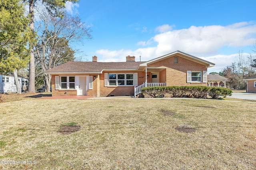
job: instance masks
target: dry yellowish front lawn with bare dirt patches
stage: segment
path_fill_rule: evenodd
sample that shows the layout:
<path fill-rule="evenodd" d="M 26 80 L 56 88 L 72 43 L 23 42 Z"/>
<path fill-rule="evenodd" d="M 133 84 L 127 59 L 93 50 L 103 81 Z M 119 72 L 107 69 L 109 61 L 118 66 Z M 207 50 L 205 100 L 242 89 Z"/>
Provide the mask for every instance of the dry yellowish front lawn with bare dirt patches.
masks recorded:
<path fill-rule="evenodd" d="M 191 99 L 5 102 L 0 160 L 36 164 L 0 169 L 256 169 L 255 108 Z M 62 135 L 62 125 L 81 128 Z"/>

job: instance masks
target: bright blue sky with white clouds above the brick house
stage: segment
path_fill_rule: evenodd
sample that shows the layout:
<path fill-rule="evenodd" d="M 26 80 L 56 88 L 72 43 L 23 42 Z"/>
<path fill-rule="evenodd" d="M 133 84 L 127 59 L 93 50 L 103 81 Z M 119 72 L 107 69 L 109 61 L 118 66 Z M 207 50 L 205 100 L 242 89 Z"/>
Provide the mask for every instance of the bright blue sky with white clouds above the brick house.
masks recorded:
<path fill-rule="evenodd" d="M 180 50 L 216 65 L 236 61 L 239 50 L 253 53 L 256 43 L 255 0 L 80 0 L 66 4 L 92 29 L 93 39 L 75 45 L 83 60 L 136 61 Z M 237 62 L 236 62 L 237 63 Z"/>

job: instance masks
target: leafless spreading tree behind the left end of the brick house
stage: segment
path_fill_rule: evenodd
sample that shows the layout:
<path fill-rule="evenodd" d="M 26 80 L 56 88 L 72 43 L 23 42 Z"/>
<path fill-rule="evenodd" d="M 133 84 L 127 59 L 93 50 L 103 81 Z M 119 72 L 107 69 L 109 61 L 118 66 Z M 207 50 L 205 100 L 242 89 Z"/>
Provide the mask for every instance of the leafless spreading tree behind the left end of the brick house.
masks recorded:
<path fill-rule="evenodd" d="M 36 60 L 42 71 L 49 70 L 60 64 L 74 60 L 74 50 L 71 43 L 82 43 L 91 39 L 91 29 L 82 23 L 78 16 L 64 14 L 62 18 L 53 17 L 44 12 L 40 15 L 37 27 L 38 44 L 36 45 Z M 46 91 L 50 92 L 50 74 L 44 74 Z"/>

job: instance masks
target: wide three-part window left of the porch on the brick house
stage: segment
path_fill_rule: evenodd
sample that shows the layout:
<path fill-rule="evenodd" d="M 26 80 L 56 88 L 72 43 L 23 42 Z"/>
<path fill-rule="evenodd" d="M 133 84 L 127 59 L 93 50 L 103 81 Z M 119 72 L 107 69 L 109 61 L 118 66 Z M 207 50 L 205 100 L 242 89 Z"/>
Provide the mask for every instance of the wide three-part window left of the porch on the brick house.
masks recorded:
<path fill-rule="evenodd" d="M 109 86 L 133 86 L 134 74 L 108 74 Z"/>

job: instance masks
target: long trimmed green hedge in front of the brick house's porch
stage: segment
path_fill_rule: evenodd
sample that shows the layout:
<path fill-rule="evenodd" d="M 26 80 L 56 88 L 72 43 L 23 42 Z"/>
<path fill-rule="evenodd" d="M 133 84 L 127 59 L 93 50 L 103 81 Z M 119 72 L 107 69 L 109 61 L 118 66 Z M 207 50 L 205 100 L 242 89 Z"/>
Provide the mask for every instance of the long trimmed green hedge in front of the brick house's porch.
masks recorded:
<path fill-rule="evenodd" d="M 143 95 L 149 95 L 153 98 L 160 97 L 161 94 L 170 94 L 173 98 L 182 98 L 187 95 L 188 98 L 206 99 L 208 96 L 212 99 L 232 95 L 232 90 L 224 87 L 207 86 L 167 86 L 167 87 L 145 87 L 141 90 Z"/>

